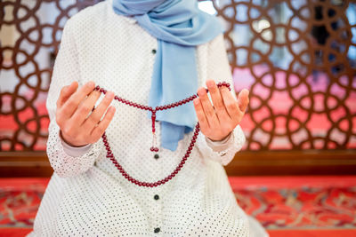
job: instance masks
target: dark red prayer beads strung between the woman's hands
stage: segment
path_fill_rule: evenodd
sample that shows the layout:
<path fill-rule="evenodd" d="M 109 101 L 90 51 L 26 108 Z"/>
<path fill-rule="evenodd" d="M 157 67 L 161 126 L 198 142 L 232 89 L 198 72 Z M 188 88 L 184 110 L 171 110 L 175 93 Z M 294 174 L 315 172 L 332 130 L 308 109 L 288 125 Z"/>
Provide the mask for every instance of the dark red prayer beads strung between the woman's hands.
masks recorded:
<path fill-rule="evenodd" d="M 225 86 L 227 88 L 229 88 L 229 90 L 231 90 L 230 88 L 230 83 L 218 83 L 217 84 L 218 87 L 222 87 L 222 86 Z M 94 91 L 100 91 L 101 93 L 103 94 L 106 94 L 106 90 L 104 90 L 103 88 L 101 88 L 99 85 L 97 85 L 95 88 L 94 88 Z M 206 89 L 206 92 L 207 89 Z M 150 147 L 150 151 L 151 152 L 158 152 L 158 147 L 157 147 L 157 141 L 156 141 L 156 126 L 155 126 L 155 123 L 156 123 L 156 113 L 157 111 L 160 111 L 160 110 L 166 110 L 166 109 L 170 109 L 170 108 L 173 108 L 173 107 L 179 107 L 179 106 L 182 106 L 190 101 L 192 101 L 193 99 L 196 99 L 198 97 L 198 94 L 194 94 L 192 96 L 190 96 L 189 98 L 187 99 L 182 99 L 178 102 L 175 102 L 175 103 L 172 103 L 172 104 L 168 104 L 168 105 L 165 105 L 165 106 L 160 106 L 160 107 L 155 107 L 155 108 L 152 108 L 152 107 L 147 107 L 147 106 L 143 106 L 143 105 L 140 105 L 140 104 L 137 104 L 137 103 L 134 103 L 130 100 L 126 100 L 126 99 L 122 99 L 118 96 L 115 96 L 114 99 L 116 99 L 117 101 L 121 102 L 121 103 L 124 103 L 125 105 L 128 105 L 130 107 L 137 107 L 139 109 L 142 109 L 142 110 L 149 110 L 151 112 L 151 120 L 152 120 L 152 134 L 153 134 L 153 142 L 152 142 L 152 146 Z M 106 136 L 106 133 L 104 132 L 104 134 L 102 134 L 101 138 L 102 138 L 102 142 L 104 143 L 104 146 L 106 148 L 106 151 L 107 151 L 107 154 L 106 154 L 106 157 L 109 158 L 109 160 L 117 167 L 117 170 L 121 173 L 121 175 L 126 178 L 128 181 L 130 181 L 131 183 L 133 183 L 134 185 L 137 185 L 137 186 L 147 186 L 147 187 L 154 187 L 154 186 L 161 186 L 161 185 L 164 185 L 166 184 L 166 182 L 168 182 L 169 180 L 171 180 L 172 178 L 174 178 L 178 172 L 180 170 L 182 170 L 182 167 L 184 165 L 184 163 L 187 161 L 187 159 L 190 157 L 190 153 L 191 153 L 191 150 L 193 149 L 196 141 L 197 141 L 197 138 L 198 138 L 198 134 L 199 134 L 199 123 L 197 123 L 197 125 L 195 126 L 195 130 L 194 130 L 194 133 L 193 133 L 193 137 L 191 138 L 190 140 L 190 146 L 188 146 L 188 149 L 186 151 L 186 153 L 184 154 L 184 156 L 182 157 L 182 160 L 181 162 L 179 162 L 179 164 L 177 165 L 177 167 L 174 169 L 174 171 L 168 175 L 166 178 L 163 178 L 161 180 L 158 180 L 156 182 L 153 182 L 153 183 L 149 183 L 149 182 L 142 182 L 142 181 L 139 181 L 133 177 L 131 177 L 125 170 L 124 168 L 117 162 L 117 160 L 115 159 L 115 156 L 114 154 L 112 153 L 111 151 L 111 148 L 109 146 L 109 142 L 108 142 L 108 138 Z"/>

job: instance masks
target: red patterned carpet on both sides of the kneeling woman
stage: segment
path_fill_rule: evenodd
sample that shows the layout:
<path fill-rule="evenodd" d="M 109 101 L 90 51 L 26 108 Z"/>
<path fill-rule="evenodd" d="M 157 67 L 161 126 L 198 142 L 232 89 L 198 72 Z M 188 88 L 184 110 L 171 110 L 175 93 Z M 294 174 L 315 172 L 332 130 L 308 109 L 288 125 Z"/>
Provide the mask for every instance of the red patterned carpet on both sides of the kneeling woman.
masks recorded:
<path fill-rule="evenodd" d="M 356 177 L 230 178 L 272 237 L 356 236 Z M 31 231 L 48 178 L 0 178 L 0 236 Z"/>

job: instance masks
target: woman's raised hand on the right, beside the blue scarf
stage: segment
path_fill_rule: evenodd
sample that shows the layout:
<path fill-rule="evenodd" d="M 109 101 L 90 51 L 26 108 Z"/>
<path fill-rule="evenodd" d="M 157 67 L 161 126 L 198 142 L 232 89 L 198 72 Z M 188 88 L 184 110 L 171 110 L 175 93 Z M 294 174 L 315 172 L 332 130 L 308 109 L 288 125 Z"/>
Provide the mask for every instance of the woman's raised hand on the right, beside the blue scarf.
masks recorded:
<path fill-rule="evenodd" d="M 201 132 L 211 140 L 220 141 L 226 138 L 238 126 L 249 102 L 248 91 L 239 92 L 236 101 L 227 87 L 218 88 L 213 80 L 206 81 L 214 107 L 207 97 L 206 89 L 198 89 L 198 98 L 194 99 L 194 107 L 198 116 Z"/>

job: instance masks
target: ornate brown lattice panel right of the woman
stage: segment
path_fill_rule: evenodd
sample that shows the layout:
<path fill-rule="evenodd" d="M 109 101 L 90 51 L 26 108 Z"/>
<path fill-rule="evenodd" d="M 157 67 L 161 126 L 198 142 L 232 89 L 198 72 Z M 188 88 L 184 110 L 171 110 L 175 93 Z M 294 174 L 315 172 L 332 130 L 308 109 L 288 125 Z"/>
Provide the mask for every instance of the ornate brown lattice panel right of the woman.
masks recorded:
<path fill-rule="evenodd" d="M 356 4 L 214 1 L 235 88 L 251 91 L 247 149 L 356 147 Z"/>

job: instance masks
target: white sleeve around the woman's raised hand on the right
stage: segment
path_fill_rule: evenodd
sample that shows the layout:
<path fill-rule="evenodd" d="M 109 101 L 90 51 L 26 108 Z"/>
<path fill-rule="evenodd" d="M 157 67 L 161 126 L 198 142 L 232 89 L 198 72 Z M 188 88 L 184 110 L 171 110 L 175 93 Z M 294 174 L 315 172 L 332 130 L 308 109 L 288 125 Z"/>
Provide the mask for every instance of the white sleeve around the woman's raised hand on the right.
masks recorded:
<path fill-rule="evenodd" d="M 223 35 L 217 36 L 208 44 L 207 78 L 205 79 L 213 79 L 216 83 L 230 83 L 231 91 L 234 90 L 231 68 L 224 46 Z M 236 99 L 235 93 L 232 94 Z M 227 138 L 220 144 L 205 138 L 203 134 L 199 133 L 197 146 L 205 157 L 220 162 L 223 165 L 227 165 L 231 162 L 235 154 L 239 152 L 245 141 L 245 135 L 241 130 L 241 127 L 238 125 L 235 130 L 231 132 L 230 138 Z"/>

